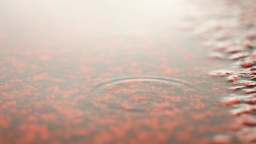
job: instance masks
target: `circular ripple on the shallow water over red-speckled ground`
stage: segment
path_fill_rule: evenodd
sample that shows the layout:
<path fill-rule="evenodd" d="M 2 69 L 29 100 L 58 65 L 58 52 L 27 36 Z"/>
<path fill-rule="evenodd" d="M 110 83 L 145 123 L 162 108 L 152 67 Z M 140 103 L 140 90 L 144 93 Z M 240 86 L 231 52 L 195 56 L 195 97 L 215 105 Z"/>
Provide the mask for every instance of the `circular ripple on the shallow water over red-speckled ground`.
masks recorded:
<path fill-rule="evenodd" d="M 160 114 L 186 108 L 189 91 L 196 89 L 170 77 L 115 77 L 96 85 L 89 99 L 94 107 L 111 111 Z"/>

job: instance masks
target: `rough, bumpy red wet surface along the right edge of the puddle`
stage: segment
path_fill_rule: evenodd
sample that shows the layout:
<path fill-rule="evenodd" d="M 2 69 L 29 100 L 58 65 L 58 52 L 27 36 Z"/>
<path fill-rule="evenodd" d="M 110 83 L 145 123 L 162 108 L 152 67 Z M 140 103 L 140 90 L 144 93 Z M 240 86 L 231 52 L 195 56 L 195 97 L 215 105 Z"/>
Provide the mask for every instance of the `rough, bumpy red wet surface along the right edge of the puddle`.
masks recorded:
<path fill-rule="evenodd" d="M 215 19 L 205 22 L 205 29 L 200 31 L 202 38 L 208 39 L 205 46 L 212 49 L 211 57 L 232 60 L 226 69 L 210 73 L 212 76 L 226 77 L 233 84 L 229 88 L 230 96 L 224 96 L 221 102 L 229 109 L 235 122 L 230 123 L 227 134 L 217 135 L 215 141 L 229 143 L 231 139 L 236 139 L 236 143 L 255 143 L 256 3 L 254 0 L 224 2 L 226 6 L 219 10 L 212 8 L 216 11 L 205 12 L 208 14 L 201 19 L 206 20 L 210 15 Z M 209 27 L 211 22 L 213 26 Z"/>

